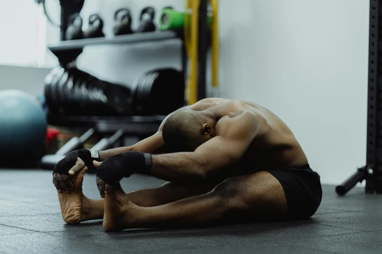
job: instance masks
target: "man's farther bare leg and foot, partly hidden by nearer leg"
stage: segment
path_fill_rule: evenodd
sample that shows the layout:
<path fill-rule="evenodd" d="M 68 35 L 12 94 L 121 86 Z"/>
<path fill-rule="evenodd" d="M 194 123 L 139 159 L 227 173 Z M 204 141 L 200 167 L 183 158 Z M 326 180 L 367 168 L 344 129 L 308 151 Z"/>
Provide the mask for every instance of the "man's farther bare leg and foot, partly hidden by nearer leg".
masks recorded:
<path fill-rule="evenodd" d="M 103 218 L 103 200 L 91 200 L 82 193 L 85 172 L 84 169 L 72 176 L 74 188 L 71 193 L 58 193 L 62 218 L 66 223 L 73 224 Z M 150 207 L 201 195 L 211 191 L 216 185 L 217 183 L 179 185 L 167 182 L 156 188 L 133 191 L 124 195 L 127 200 L 131 200 L 141 207 Z"/>

